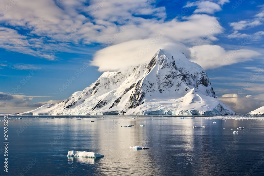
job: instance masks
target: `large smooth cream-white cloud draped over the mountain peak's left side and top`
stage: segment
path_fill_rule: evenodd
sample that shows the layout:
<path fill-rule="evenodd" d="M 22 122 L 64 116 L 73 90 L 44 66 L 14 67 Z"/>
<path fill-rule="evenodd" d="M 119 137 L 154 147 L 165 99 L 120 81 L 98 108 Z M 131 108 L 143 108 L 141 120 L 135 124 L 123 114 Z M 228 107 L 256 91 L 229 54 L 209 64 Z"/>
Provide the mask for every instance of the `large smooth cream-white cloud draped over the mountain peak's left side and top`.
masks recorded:
<path fill-rule="evenodd" d="M 153 39 L 132 40 L 97 51 L 91 65 L 98 66 L 101 72 L 117 71 L 150 61 L 159 49 L 184 51 L 186 47 L 172 43 L 166 38 L 161 38 L 157 42 Z"/>

